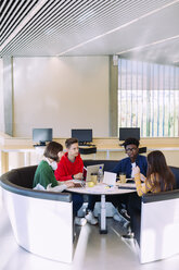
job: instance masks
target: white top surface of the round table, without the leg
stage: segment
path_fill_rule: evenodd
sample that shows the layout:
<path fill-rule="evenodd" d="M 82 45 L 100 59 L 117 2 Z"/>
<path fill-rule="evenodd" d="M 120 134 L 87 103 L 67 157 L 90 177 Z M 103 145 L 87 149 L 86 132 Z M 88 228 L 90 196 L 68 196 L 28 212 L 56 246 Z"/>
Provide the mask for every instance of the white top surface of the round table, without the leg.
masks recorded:
<path fill-rule="evenodd" d="M 89 194 L 89 195 L 117 195 L 125 193 L 136 192 L 135 183 L 116 184 L 115 186 L 108 187 L 106 184 L 98 184 L 93 187 L 71 187 L 66 191 L 72 193 Z M 135 188 L 135 189 L 133 189 Z"/>

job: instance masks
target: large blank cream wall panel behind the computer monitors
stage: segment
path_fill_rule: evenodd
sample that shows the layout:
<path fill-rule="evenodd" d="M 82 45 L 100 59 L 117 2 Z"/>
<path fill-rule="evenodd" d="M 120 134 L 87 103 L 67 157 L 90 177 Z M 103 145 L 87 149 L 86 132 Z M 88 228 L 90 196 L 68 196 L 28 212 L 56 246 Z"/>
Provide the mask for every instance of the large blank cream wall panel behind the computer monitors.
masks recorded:
<path fill-rule="evenodd" d="M 15 58 L 13 135 L 30 137 L 33 127 L 107 137 L 108 57 Z"/>

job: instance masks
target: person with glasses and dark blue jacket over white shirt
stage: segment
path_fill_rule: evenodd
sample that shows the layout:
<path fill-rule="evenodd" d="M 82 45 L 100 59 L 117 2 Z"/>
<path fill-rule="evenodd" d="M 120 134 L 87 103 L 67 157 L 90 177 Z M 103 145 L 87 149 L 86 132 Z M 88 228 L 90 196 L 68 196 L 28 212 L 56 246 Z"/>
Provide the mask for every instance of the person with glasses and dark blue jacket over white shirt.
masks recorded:
<path fill-rule="evenodd" d="M 133 169 L 139 167 L 140 179 L 144 181 L 146 176 L 148 161 L 145 156 L 139 155 L 139 140 L 136 138 L 127 138 L 123 146 L 125 147 L 125 151 L 128 157 L 122 159 L 112 172 L 117 173 L 117 175 L 120 173 L 126 174 L 126 179 L 135 179 Z M 113 216 L 114 220 L 122 222 L 123 216 L 129 221 L 130 217 L 127 211 L 129 194 L 124 194 L 120 196 L 114 195 L 108 197 L 108 199 L 116 208 L 116 212 Z"/>

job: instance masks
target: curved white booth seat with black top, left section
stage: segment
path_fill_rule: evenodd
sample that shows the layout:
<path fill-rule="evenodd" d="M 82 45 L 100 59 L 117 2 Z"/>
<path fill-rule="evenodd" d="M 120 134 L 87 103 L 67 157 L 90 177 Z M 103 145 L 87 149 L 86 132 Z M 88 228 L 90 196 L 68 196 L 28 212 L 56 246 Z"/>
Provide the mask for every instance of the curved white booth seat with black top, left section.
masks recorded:
<path fill-rule="evenodd" d="M 35 171 L 36 167 L 31 169 Z M 15 184 L 15 182 L 23 183 L 24 175 L 24 186 L 29 185 L 25 171 L 25 168 L 12 170 L 0 179 L 4 205 L 17 244 L 38 256 L 72 262 L 73 202 L 71 194 L 34 191 Z"/>

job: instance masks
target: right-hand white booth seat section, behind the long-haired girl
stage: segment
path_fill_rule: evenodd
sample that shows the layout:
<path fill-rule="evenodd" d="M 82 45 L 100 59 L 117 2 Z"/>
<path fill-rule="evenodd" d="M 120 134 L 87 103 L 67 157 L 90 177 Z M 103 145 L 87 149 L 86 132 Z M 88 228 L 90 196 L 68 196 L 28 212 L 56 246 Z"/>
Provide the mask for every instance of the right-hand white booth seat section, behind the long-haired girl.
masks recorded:
<path fill-rule="evenodd" d="M 179 189 L 142 197 L 140 262 L 179 254 Z"/>

